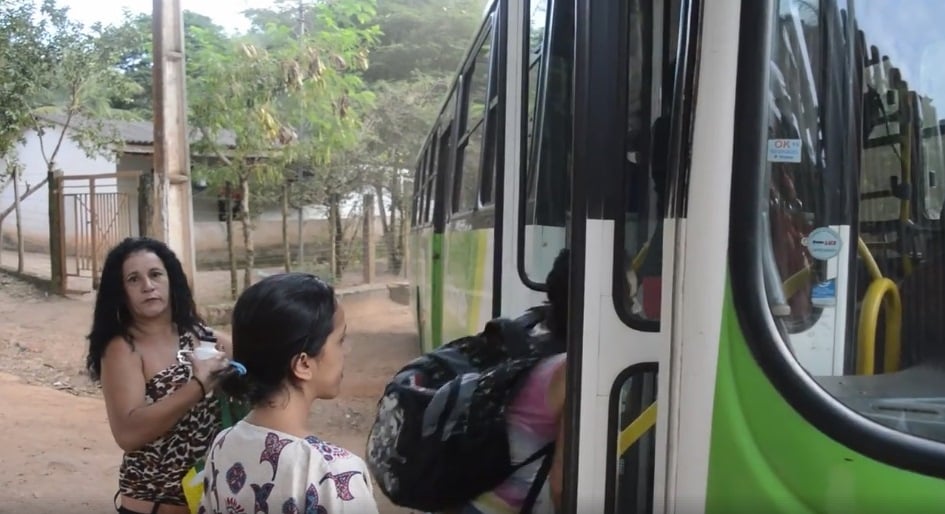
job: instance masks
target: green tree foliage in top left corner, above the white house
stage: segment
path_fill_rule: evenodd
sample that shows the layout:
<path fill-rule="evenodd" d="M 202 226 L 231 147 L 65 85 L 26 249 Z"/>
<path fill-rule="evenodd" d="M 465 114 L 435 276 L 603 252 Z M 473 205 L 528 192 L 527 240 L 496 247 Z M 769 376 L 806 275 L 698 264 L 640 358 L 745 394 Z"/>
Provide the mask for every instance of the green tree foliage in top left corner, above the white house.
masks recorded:
<path fill-rule="evenodd" d="M 89 155 L 104 152 L 115 141 L 105 120 L 131 115 L 113 109 L 111 99 L 128 98 L 140 87 L 114 66 L 122 48 L 106 37 L 110 30 L 82 26 L 54 0 L 45 0 L 38 10 L 28 0 L 3 4 L 0 66 L 9 87 L 0 93 L 0 153 L 9 151 L 24 130 L 42 133 L 54 124 L 69 128 Z M 62 137 L 42 148 L 50 168 L 61 142 Z"/>

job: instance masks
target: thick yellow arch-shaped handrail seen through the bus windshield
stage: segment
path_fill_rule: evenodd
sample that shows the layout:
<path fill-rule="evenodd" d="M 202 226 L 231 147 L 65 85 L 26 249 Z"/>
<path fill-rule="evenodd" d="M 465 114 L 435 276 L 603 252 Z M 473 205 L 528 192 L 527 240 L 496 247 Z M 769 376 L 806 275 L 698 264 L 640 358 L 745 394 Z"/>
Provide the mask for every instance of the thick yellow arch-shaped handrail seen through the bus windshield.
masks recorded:
<path fill-rule="evenodd" d="M 902 301 L 896 283 L 888 278 L 880 278 L 873 280 L 866 289 L 860 310 L 856 352 L 858 375 L 872 375 L 876 369 L 876 325 L 881 308 L 886 320 L 882 372 L 889 373 L 899 369 L 902 351 L 899 340 L 902 330 Z"/>

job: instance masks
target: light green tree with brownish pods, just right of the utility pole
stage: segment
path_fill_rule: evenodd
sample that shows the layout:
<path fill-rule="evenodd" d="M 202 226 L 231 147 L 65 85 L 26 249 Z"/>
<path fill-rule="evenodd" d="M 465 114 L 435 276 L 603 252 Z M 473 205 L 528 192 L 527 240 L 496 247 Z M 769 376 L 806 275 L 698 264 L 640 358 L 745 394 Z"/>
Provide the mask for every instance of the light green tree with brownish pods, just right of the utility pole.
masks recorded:
<path fill-rule="evenodd" d="M 289 163 L 329 162 L 357 126 L 353 108 L 364 98 L 356 73 L 367 67 L 376 32 L 366 27 L 373 4 L 348 0 L 311 9 L 318 32 L 299 35 L 269 24 L 228 51 L 205 49 L 193 57 L 201 67 L 190 94 L 192 125 L 202 134 L 195 149 L 222 163 L 209 172 L 212 182 L 233 181 L 241 192 L 244 287 L 255 261 L 251 185 L 285 180 Z M 224 131 L 234 134 L 231 148 L 218 142 Z"/>

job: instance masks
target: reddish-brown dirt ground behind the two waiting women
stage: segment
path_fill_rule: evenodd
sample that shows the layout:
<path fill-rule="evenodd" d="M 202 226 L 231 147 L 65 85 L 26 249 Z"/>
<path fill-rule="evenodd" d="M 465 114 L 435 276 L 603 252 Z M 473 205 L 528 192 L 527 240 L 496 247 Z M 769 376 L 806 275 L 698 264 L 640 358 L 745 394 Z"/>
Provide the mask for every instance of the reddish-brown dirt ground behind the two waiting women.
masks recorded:
<path fill-rule="evenodd" d="M 49 297 L 0 274 L 0 513 L 114 512 L 121 451 L 84 372 L 93 298 Z M 317 402 L 314 434 L 362 455 L 388 378 L 417 355 L 409 308 L 350 300 L 341 397 Z M 375 488 L 382 513 L 406 513 Z"/>

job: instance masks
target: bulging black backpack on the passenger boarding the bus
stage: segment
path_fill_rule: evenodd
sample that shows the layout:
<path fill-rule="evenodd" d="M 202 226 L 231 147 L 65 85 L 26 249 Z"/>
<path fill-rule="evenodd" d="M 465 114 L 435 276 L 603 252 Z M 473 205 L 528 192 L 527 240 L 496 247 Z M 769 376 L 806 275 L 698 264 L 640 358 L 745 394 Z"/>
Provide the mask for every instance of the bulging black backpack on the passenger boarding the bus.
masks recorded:
<path fill-rule="evenodd" d="M 537 307 L 515 320 L 494 319 L 394 375 L 367 445 L 367 465 L 391 502 L 425 512 L 457 508 L 544 457 L 523 508 L 530 512 L 553 444 L 513 465 L 505 411 L 528 372 L 564 351 L 550 334 L 530 334 L 543 313 Z"/>

